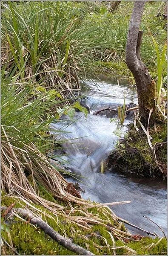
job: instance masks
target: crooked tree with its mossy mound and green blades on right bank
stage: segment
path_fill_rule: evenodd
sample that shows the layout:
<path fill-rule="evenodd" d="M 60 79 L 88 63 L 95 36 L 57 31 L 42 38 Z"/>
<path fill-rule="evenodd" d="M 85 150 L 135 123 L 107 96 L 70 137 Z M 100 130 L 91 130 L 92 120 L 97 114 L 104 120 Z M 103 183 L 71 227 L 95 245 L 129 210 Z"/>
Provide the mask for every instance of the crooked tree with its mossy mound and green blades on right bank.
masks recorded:
<path fill-rule="evenodd" d="M 160 52 L 148 29 L 157 54 L 157 87 L 155 87 L 154 80 L 151 80 L 148 69 L 140 59 L 142 31 L 139 31 L 139 27 L 143 8 L 144 3 L 136 2 L 134 5 L 126 46 L 126 62 L 136 81 L 139 110 L 135 112 L 134 126 L 129 131 L 128 138 L 122 144 L 118 143 L 117 151 L 111 153 L 110 165 L 117 167 L 118 170 L 122 169 L 122 172 L 124 170 L 136 175 L 165 179 L 167 178 L 167 91 L 164 88 L 163 80 L 166 81 L 166 78 L 163 78 L 163 73 L 167 67 L 165 55 L 167 45 L 165 44 Z M 137 16 L 137 19 L 134 16 Z M 134 24 L 135 20 L 137 24 Z M 135 38 L 137 37 L 135 35 L 138 38 Z M 142 130 L 139 131 L 141 128 Z"/>

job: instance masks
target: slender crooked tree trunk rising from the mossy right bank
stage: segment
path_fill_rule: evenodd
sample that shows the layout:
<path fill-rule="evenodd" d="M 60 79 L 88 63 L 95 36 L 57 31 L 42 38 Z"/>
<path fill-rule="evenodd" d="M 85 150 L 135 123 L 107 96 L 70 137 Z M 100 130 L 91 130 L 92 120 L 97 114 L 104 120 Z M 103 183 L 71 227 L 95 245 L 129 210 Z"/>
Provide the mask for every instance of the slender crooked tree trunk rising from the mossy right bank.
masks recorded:
<path fill-rule="evenodd" d="M 147 67 L 140 60 L 140 46 L 143 32 L 139 31 L 139 28 L 145 2 L 135 1 L 134 3 L 125 49 L 126 64 L 131 70 L 137 85 L 139 110 L 143 124 L 148 121 L 151 108 L 155 108 L 156 96 L 154 80 L 151 80 Z"/>

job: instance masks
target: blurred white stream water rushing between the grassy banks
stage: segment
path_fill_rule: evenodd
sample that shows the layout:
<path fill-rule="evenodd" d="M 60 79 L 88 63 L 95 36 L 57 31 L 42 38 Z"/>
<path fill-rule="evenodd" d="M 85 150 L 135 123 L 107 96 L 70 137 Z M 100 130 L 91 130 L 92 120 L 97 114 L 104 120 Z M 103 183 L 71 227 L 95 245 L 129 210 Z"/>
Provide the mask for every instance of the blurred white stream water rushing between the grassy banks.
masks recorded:
<path fill-rule="evenodd" d="M 115 121 L 110 123 L 105 115 L 93 113 L 108 107 L 117 108 L 123 104 L 124 96 L 126 104 L 132 101 L 137 103 L 136 89 L 123 81 L 118 85 L 117 81 L 106 77 L 102 77 L 101 81 L 86 81 L 86 84 L 85 103 L 91 109 L 87 119 L 83 113 L 76 112 L 73 120 L 64 116 L 59 122 L 52 124 L 53 128 L 62 130 L 60 134 L 56 134 L 57 140 L 63 141 L 65 154 L 57 157 L 57 160 L 64 161 L 66 168 L 76 175 L 78 180 L 68 178 L 68 181 L 80 184 L 85 190 L 82 193 L 83 198 L 100 203 L 130 200 L 129 204 L 115 205 L 111 209 L 117 216 L 132 224 L 162 236 L 162 231 L 143 216 L 151 218 L 167 233 L 166 184 L 125 177 L 114 171 L 105 174 L 100 172 L 102 163 L 106 163 L 108 154 L 118 140 L 113 133 L 117 124 Z M 123 131 L 127 130 L 130 122 L 132 119 L 128 116 Z M 132 233 L 145 235 L 134 228 L 129 229 Z"/>

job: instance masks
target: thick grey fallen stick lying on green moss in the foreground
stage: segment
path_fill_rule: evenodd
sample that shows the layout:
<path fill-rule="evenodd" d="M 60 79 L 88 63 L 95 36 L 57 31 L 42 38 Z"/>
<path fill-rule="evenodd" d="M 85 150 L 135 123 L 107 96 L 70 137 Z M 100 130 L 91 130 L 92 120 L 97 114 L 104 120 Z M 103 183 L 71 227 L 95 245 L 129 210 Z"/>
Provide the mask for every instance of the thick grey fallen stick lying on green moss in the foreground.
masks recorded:
<path fill-rule="evenodd" d="M 1 210 L 5 210 L 5 209 L 7 209 L 7 207 L 1 207 Z M 68 250 L 71 250 L 74 253 L 79 253 L 80 255 L 94 255 L 90 251 L 85 250 L 83 247 L 80 247 L 79 245 L 72 243 L 70 239 L 67 239 L 61 236 L 57 231 L 55 231 L 52 227 L 46 224 L 45 221 L 43 221 L 39 217 L 34 216 L 28 210 L 25 210 L 22 208 L 14 208 L 14 209 L 11 209 L 11 213 L 12 212 L 16 212 L 25 220 L 29 220 L 31 224 L 37 225 L 37 227 L 40 227 L 40 229 L 43 230 L 44 233 L 50 236 L 54 241 L 57 241 L 58 243 L 63 245 L 63 247 L 67 248 Z"/>

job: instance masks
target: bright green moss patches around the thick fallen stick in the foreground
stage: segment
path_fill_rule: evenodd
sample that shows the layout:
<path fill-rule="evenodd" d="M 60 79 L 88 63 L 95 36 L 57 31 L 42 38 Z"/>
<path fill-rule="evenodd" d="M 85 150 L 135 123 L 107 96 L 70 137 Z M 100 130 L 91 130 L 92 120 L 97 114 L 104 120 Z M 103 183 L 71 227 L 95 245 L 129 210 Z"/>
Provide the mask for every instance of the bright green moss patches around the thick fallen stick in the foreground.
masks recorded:
<path fill-rule="evenodd" d="M 9 207 L 14 201 L 14 198 L 2 194 L 2 205 Z M 14 207 L 23 207 L 24 203 L 20 200 L 16 203 Z M 33 204 L 34 205 L 34 204 Z M 85 249 L 90 250 L 95 255 L 113 255 L 113 242 L 111 236 L 107 232 L 107 228 L 100 224 L 90 225 L 90 230 L 83 229 L 77 224 L 74 224 L 64 215 L 57 215 L 57 217 L 52 214 L 50 211 L 45 209 L 42 206 L 34 205 L 36 208 L 41 209 L 42 212 L 48 213 L 52 218 L 41 214 L 41 218 L 47 221 L 54 230 L 59 232 L 61 235 L 71 238 L 75 244 L 84 247 Z M 110 217 L 110 211 L 103 212 L 103 209 L 97 209 L 93 207 L 89 209 L 90 212 L 98 215 L 99 218 L 108 221 L 108 224 L 114 225 L 114 220 Z M 75 212 L 71 215 L 78 215 L 79 212 Z M 2 219 L 3 220 L 3 219 Z M 65 247 L 61 246 L 54 240 L 50 239 L 42 230 L 39 228 L 26 223 L 25 221 L 20 221 L 19 218 L 14 217 L 9 224 L 10 235 L 14 248 L 17 250 L 20 255 L 76 255 L 75 253 L 67 250 Z M 109 223 L 110 221 L 110 223 Z M 121 230 L 125 230 L 124 225 L 122 224 Z M 9 236 L 6 231 L 1 233 L 2 237 L 10 244 Z M 157 243 L 158 239 L 151 239 L 148 237 L 142 238 L 142 241 L 127 241 L 124 242 L 117 240 L 115 237 L 116 247 L 128 245 L 128 247 L 137 251 L 137 254 L 144 255 L 149 254 L 147 247 L 152 243 Z M 107 246 L 108 244 L 108 246 Z M 87 246 L 86 246 L 87 245 Z M 100 247 L 101 246 L 101 247 Z M 109 247 L 111 246 L 111 247 Z M 101 248 L 101 249 L 100 249 Z M 150 250 L 150 255 L 159 255 L 160 252 L 166 251 L 166 241 L 163 239 L 158 245 Z M 8 255 L 13 255 L 12 250 L 8 247 L 3 246 L 1 248 L 1 253 L 5 255 L 7 252 Z M 128 250 L 126 248 L 116 249 L 117 255 L 127 254 Z"/>

